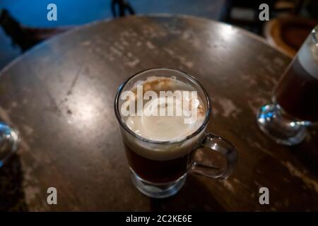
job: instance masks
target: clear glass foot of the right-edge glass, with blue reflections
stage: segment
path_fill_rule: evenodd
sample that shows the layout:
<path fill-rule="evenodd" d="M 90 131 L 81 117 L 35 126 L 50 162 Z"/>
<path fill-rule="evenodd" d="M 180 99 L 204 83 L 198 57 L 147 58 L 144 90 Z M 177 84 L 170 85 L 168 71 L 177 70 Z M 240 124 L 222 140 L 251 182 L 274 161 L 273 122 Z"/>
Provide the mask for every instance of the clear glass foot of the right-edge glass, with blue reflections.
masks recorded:
<path fill-rule="evenodd" d="M 259 129 L 277 143 L 296 145 L 307 134 L 305 122 L 294 121 L 282 114 L 279 105 L 264 105 L 257 114 Z"/>

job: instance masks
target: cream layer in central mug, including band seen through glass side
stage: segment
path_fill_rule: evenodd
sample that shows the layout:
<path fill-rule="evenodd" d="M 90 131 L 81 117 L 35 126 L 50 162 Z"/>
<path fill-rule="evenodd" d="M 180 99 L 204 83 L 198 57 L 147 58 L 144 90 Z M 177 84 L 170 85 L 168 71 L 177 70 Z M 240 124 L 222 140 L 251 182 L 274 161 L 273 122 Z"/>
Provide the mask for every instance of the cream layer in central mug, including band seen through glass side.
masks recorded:
<path fill-rule="evenodd" d="M 131 100 L 135 102 L 139 98 L 137 92 L 137 85 L 142 85 L 143 93 L 146 91 L 153 91 L 158 94 L 158 97 L 149 98 L 149 100 L 143 100 L 143 113 L 148 112 L 150 115 L 129 115 L 124 118 L 126 126 L 137 135 L 146 138 L 151 141 L 183 141 L 187 136 L 194 133 L 204 123 L 206 117 L 206 109 L 204 103 L 199 95 L 195 97 L 192 95 L 182 95 L 181 99 L 177 100 L 173 95 L 165 97 L 165 103 L 163 104 L 163 97 L 160 97 L 160 91 L 196 91 L 187 83 L 179 81 L 174 77 L 167 78 L 163 76 L 151 76 L 145 81 L 138 81 L 134 84 L 131 91 L 134 92 L 136 99 Z M 180 106 L 188 105 L 189 108 L 182 107 L 182 114 L 176 115 L 176 109 Z M 173 109 L 174 114 L 172 116 L 154 116 L 155 111 L 167 112 L 168 109 Z M 193 113 L 196 113 L 196 117 L 193 117 Z M 185 119 L 188 119 L 187 123 Z M 143 157 L 151 158 L 153 160 L 169 160 L 177 157 L 182 157 L 190 151 L 194 150 L 198 145 L 198 137 L 204 133 L 204 130 L 198 134 L 193 140 L 185 141 L 182 143 L 176 143 L 173 145 L 155 145 L 149 143 L 143 143 L 138 141 L 137 138 L 131 136 L 124 137 L 124 141 L 128 144 L 132 150 Z"/>

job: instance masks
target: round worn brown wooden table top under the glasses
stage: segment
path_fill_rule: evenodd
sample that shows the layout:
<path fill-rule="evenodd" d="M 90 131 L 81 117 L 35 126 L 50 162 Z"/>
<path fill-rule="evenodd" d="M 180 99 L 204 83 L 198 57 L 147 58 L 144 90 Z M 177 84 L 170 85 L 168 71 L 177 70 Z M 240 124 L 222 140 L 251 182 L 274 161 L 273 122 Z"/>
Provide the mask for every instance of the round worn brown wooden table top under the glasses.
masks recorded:
<path fill-rule="evenodd" d="M 0 169 L 1 210 L 318 210 L 318 139 L 278 145 L 255 114 L 290 59 L 260 37 L 188 16 L 133 16 L 76 28 L 1 71 L 0 118 L 22 143 Z M 153 67 L 194 75 L 211 96 L 208 131 L 239 160 L 225 181 L 190 174 L 155 200 L 131 182 L 113 102 L 119 85 Z M 202 157 L 203 152 L 198 153 Z M 47 189 L 57 189 L 57 205 Z M 269 189 L 269 205 L 259 189 Z"/>

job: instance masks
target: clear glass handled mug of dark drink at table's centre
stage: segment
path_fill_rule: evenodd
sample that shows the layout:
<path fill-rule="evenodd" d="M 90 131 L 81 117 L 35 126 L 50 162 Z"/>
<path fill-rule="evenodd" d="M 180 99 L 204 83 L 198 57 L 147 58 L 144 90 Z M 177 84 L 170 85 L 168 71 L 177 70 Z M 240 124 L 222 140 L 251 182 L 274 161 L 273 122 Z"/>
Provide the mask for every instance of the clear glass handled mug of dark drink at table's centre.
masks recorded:
<path fill-rule="evenodd" d="M 125 117 L 120 112 L 124 102 L 120 96 L 125 90 L 131 90 L 137 81 L 145 81 L 150 76 L 170 78 L 173 76 L 197 91 L 206 109 L 203 124 L 199 126 L 199 129 L 178 141 L 153 141 L 139 136 L 129 129 Z M 176 194 L 182 188 L 189 172 L 213 179 L 227 179 L 235 169 L 237 150 L 224 138 L 206 132 L 211 115 L 210 100 L 199 81 L 187 73 L 174 69 L 148 69 L 136 73 L 120 85 L 114 100 L 114 112 L 131 169 L 131 179 L 136 188 L 146 196 L 165 198 Z M 213 167 L 194 161 L 196 150 L 201 147 L 210 148 L 211 151 L 224 155 L 227 162 L 226 167 Z M 181 149 L 183 155 L 178 155 L 178 150 Z M 153 151 L 153 156 L 143 155 L 142 150 L 147 150 L 148 153 Z M 175 156 L 170 155 L 167 158 L 160 155 L 160 151 L 175 152 Z"/>

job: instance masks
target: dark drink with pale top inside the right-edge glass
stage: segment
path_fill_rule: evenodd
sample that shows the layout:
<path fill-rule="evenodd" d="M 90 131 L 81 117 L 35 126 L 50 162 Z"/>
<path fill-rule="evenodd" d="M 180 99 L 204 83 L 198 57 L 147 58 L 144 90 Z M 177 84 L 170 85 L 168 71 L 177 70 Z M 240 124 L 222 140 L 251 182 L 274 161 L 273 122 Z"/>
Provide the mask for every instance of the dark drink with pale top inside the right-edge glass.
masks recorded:
<path fill-rule="evenodd" d="M 298 121 L 318 121 L 318 47 L 305 42 L 274 90 L 274 101 Z"/>

